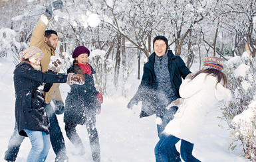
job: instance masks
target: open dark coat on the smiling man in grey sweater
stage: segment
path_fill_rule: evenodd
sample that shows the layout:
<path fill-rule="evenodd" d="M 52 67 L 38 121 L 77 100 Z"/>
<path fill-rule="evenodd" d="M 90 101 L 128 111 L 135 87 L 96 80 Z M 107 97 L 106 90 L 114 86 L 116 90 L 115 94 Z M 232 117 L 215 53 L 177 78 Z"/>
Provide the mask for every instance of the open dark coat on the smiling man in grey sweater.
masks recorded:
<path fill-rule="evenodd" d="M 168 69 L 172 85 L 174 85 L 174 93 L 177 98 L 180 98 L 179 89 L 182 84 L 182 78 L 191 73 L 190 69 L 186 67 L 184 61 L 180 56 L 174 56 L 172 50 L 168 50 Z M 135 101 L 142 101 L 142 112 L 140 118 L 144 116 L 151 116 L 155 114 L 158 108 L 158 100 L 156 98 L 156 74 L 154 72 L 155 52 L 150 55 L 148 62 L 144 65 L 144 73 L 142 81 L 138 87 L 138 91 L 132 99 Z"/>

